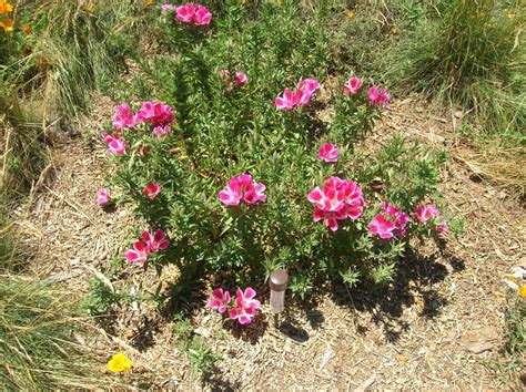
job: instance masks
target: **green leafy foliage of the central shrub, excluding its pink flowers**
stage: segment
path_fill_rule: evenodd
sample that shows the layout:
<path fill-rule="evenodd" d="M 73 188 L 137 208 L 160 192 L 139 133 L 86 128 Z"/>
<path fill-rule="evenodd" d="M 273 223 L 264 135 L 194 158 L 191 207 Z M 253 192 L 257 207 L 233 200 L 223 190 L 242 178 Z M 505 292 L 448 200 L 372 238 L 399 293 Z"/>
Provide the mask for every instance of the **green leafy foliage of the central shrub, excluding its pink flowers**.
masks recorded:
<path fill-rule="evenodd" d="M 438 167 L 445 155 L 418 142 L 396 137 L 383 147 L 361 152 L 356 143 L 374 125 L 378 111 L 362 93 L 344 96 L 338 86 L 334 118 L 321 121 L 316 102 L 311 107 L 280 112 L 274 99 L 297 80 L 324 78 L 327 40 L 316 14 L 300 23 L 299 9 L 265 3 L 257 21 L 237 27 L 241 8 L 231 9 L 221 29 L 199 33 L 169 22 L 166 33 L 178 37 L 173 55 L 143 61 L 143 75 L 120 95 L 159 100 L 176 109 L 176 125 L 165 136 L 152 134 L 142 123 L 122 130 L 127 152 L 115 156 L 115 177 L 108 184 L 122 193 L 119 203 L 133 202 L 149 227 L 169 234 L 168 251 L 151 254 L 158 269 L 176 264 L 183 278 L 213 274 L 236 283 L 254 283 L 279 267 L 286 267 L 291 287 L 305 295 L 316 279 L 358 276 L 388 282 L 409 236 L 435 235 L 429 226 L 413 220 L 407 237 L 391 241 L 368 234 L 368 223 L 381 202 L 413 214 L 422 202 L 441 203 Z M 245 86 L 226 86 L 219 71 L 245 72 Z M 133 107 L 138 109 L 138 107 Z M 111 131 L 109 131 L 112 133 Z M 335 143 L 341 155 L 330 165 L 317 157 L 324 142 Z M 257 206 L 226 208 L 218 193 L 231 176 L 250 173 L 266 185 L 267 200 Z M 337 231 L 313 221 L 307 194 L 331 176 L 353 179 L 363 189 L 364 217 L 342 223 Z M 143 195 L 148 184 L 161 193 L 152 202 Z M 112 193 L 118 193 L 118 190 Z M 133 234 L 139 238 L 141 229 Z M 146 265 L 148 266 L 148 265 Z M 357 274 L 360 272 L 360 274 Z M 353 275 L 354 274 L 354 275 Z"/>

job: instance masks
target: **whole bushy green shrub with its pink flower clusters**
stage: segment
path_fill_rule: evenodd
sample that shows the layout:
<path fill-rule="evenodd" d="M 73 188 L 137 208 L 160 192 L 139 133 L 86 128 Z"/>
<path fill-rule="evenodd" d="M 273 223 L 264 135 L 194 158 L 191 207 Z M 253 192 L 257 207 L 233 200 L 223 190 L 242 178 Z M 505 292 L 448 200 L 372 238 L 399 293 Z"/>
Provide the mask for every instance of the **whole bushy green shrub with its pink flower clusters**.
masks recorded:
<path fill-rule="evenodd" d="M 168 19 L 174 11 L 164 10 Z M 181 9 L 181 18 L 190 21 L 191 10 Z M 216 40 L 191 35 L 190 45 L 175 42 L 183 55 L 144 62 L 144 81 L 133 87 L 150 101 L 119 105 L 105 124 L 112 200 L 132 203 L 146 233 L 162 230 L 158 243 L 170 238 L 153 247 L 135 233 L 127 260 L 252 287 L 286 268 L 299 293 L 316 279 L 390 281 L 409 239 L 439 236 L 435 228 L 449 221 L 447 213 L 421 221 L 417 212 L 444 209 L 444 154 L 403 137 L 371 152 L 354 148 L 388 109 L 387 91 L 347 79 L 327 103 L 334 117 L 321 122 L 313 99 L 324 84 L 324 37 L 302 30 L 308 25 L 282 31 L 283 17 L 270 12 L 272 34 L 237 34 L 231 18 L 220 22 L 232 30 L 214 31 Z M 182 37 L 181 29 L 170 37 Z M 252 299 L 245 290 L 232 302 L 216 290 L 210 305 L 244 323 L 257 309 Z"/>

